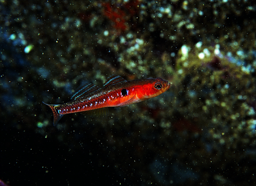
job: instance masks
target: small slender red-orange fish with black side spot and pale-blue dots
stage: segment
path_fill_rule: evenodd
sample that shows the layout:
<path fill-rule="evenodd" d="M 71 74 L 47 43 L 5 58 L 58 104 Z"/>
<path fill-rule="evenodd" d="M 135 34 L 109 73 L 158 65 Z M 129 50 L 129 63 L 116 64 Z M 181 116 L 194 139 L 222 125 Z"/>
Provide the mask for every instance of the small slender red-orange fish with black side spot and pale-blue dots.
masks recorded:
<path fill-rule="evenodd" d="M 68 103 L 46 104 L 53 112 L 53 125 L 57 125 L 65 114 L 91 111 L 105 107 L 123 107 L 161 95 L 170 88 L 170 83 L 162 78 L 147 78 L 126 81 L 119 75 L 111 75 L 100 88 L 95 84 L 85 84 Z"/>

